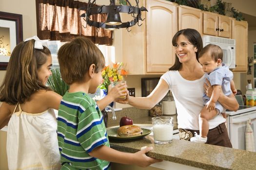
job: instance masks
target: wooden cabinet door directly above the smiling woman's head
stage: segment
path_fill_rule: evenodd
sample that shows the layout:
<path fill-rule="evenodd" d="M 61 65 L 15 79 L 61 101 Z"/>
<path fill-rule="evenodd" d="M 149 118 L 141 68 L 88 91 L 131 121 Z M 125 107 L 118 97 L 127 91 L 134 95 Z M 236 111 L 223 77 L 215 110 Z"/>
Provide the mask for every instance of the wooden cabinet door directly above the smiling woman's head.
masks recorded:
<path fill-rule="evenodd" d="M 178 6 L 178 30 L 193 28 L 203 34 L 203 13 L 196 8 Z"/>

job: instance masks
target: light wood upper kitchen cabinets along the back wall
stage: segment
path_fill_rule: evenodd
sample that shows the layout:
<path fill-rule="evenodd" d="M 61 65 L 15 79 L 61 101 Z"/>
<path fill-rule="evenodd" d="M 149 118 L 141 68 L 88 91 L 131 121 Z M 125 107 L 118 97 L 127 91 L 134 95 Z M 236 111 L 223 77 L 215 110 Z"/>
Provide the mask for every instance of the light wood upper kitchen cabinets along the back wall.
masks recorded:
<path fill-rule="evenodd" d="M 247 71 L 248 25 L 211 12 L 177 5 L 167 0 L 141 0 L 148 12 L 143 12 L 142 24 L 115 31 L 116 61 L 123 62 L 130 75 L 163 74 L 175 63 L 173 36 L 178 30 L 193 28 L 208 34 L 236 39 L 236 72 Z M 122 15 L 122 20 L 130 20 Z M 118 35 L 120 34 L 120 36 Z"/>

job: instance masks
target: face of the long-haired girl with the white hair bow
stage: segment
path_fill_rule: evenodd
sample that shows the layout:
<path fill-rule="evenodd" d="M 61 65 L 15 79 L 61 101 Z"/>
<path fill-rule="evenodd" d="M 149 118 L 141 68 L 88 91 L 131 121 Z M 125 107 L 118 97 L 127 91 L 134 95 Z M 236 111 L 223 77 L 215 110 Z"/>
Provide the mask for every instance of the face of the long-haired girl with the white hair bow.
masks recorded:
<path fill-rule="evenodd" d="M 52 75 L 52 57 L 48 56 L 46 62 L 38 68 L 38 79 L 43 85 L 46 85 L 48 78 Z"/>

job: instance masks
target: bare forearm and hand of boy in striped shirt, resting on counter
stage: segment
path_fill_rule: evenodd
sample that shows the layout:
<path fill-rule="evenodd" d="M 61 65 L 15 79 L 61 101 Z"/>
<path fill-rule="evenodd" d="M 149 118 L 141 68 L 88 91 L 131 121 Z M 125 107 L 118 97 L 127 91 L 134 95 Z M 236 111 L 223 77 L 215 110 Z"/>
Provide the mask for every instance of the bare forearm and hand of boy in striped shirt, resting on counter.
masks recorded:
<path fill-rule="evenodd" d="M 151 151 L 153 148 L 148 147 L 137 153 L 123 153 L 105 145 L 98 146 L 89 154 L 101 160 L 116 162 L 120 164 L 138 165 L 139 167 L 147 167 L 153 163 L 161 162 L 162 160 L 148 157 L 145 153 Z"/>

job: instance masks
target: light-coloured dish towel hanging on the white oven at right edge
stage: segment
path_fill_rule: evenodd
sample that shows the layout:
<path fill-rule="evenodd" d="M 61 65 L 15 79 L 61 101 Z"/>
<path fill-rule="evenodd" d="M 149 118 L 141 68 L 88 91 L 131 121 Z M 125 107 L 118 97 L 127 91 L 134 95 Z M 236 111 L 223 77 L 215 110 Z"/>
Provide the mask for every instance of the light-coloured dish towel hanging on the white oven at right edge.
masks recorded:
<path fill-rule="evenodd" d="M 251 119 L 247 120 L 247 126 L 245 130 L 245 150 L 255 152 L 254 132 L 251 127 Z"/>

